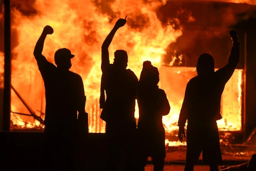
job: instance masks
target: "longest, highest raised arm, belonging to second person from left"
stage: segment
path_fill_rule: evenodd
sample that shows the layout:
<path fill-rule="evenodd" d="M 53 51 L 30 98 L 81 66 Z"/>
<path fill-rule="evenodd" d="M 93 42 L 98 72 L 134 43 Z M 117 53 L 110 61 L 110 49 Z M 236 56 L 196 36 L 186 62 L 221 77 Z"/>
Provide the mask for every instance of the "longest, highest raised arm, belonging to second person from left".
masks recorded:
<path fill-rule="evenodd" d="M 110 64 L 110 58 L 109 58 L 109 46 L 110 43 L 113 40 L 113 37 L 116 33 L 116 31 L 123 27 L 126 23 L 126 19 L 118 19 L 114 28 L 111 30 L 110 34 L 106 37 L 104 40 L 102 46 L 101 46 L 101 70 L 102 73 L 108 68 L 108 65 Z"/>

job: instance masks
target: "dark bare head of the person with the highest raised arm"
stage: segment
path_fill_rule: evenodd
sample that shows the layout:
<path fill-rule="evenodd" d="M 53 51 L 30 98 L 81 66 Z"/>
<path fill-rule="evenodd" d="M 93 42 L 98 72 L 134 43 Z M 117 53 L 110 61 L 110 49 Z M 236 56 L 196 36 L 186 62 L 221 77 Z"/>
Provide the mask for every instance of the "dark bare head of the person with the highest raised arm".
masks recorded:
<path fill-rule="evenodd" d="M 113 65 L 115 68 L 123 70 L 126 69 L 128 63 L 128 55 L 124 50 L 117 50 L 114 53 L 114 62 Z"/>

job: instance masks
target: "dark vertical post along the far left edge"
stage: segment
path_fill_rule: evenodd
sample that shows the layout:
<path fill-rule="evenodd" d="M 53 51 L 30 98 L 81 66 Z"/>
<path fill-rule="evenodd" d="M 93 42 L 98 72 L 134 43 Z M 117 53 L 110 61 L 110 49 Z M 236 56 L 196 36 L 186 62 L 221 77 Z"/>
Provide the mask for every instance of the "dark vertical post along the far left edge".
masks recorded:
<path fill-rule="evenodd" d="M 5 6 L 5 83 L 3 104 L 3 131 L 10 131 L 11 112 L 11 12 L 10 0 L 4 0 Z"/>

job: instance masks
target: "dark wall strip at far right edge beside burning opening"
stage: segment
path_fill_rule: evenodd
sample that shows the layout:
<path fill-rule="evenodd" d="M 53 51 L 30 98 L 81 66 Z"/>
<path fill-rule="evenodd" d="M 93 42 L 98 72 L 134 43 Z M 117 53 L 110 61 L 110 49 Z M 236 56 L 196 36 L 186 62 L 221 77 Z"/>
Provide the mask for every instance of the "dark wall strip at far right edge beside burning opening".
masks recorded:
<path fill-rule="evenodd" d="M 256 127 L 256 18 L 239 22 L 234 28 L 244 32 L 245 56 L 245 115 L 243 120 L 245 137 Z"/>

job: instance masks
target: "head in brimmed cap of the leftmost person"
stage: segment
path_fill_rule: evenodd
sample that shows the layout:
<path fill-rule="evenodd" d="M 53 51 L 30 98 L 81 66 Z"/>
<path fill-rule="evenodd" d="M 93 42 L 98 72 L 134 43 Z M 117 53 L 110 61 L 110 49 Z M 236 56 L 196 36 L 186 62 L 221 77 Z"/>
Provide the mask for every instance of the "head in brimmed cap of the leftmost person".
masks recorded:
<path fill-rule="evenodd" d="M 58 68 L 70 69 L 72 66 L 71 58 L 74 58 L 74 56 L 67 48 L 60 48 L 55 52 L 54 60 Z"/>

